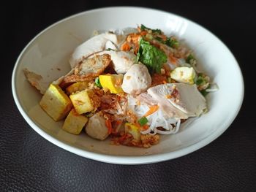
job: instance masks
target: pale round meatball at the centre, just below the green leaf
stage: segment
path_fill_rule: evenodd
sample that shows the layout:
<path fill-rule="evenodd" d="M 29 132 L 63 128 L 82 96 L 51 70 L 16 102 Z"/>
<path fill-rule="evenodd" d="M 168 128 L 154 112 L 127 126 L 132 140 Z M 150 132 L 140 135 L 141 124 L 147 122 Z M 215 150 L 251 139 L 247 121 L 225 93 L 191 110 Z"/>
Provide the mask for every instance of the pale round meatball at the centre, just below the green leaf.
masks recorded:
<path fill-rule="evenodd" d="M 126 74 L 124 74 L 121 88 L 125 93 L 138 95 L 143 93 L 151 86 L 151 76 L 148 69 L 143 64 L 132 65 Z"/>

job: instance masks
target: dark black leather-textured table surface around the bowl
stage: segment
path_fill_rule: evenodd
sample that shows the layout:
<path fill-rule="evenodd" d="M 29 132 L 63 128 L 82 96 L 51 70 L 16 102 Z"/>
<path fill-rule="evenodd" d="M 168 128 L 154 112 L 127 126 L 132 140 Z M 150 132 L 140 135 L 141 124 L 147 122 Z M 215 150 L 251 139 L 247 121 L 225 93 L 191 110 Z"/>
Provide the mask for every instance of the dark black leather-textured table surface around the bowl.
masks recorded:
<path fill-rule="evenodd" d="M 256 191 L 255 3 L 85 0 L 7 4 L 1 4 L 0 191 Z M 171 161 L 121 166 L 69 153 L 39 136 L 23 120 L 11 91 L 12 69 L 23 47 L 62 18 L 117 5 L 153 7 L 184 16 L 208 28 L 230 48 L 244 75 L 245 97 L 236 120 L 222 136 Z"/>

